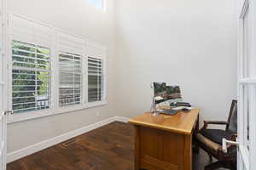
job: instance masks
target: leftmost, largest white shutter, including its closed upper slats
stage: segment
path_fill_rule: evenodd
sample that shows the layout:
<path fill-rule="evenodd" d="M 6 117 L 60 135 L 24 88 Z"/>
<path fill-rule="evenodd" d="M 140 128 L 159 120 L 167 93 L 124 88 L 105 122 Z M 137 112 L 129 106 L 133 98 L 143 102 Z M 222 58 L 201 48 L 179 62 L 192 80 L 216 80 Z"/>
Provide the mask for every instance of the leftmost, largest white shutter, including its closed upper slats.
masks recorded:
<path fill-rule="evenodd" d="M 9 15 L 12 48 L 12 109 L 15 113 L 48 109 L 54 31 Z"/>

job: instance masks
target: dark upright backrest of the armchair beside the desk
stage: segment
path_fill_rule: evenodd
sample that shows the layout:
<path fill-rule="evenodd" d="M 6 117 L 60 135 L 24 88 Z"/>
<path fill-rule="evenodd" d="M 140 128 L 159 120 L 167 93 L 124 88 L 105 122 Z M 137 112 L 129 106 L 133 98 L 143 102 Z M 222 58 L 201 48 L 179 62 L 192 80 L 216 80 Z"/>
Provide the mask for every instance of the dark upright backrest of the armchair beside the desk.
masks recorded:
<path fill-rule="evenodd" d="M 230 116 L 228 119 L 227 131 L 237 133 L 237 100 L 233 100 L 230 107 Z"/>

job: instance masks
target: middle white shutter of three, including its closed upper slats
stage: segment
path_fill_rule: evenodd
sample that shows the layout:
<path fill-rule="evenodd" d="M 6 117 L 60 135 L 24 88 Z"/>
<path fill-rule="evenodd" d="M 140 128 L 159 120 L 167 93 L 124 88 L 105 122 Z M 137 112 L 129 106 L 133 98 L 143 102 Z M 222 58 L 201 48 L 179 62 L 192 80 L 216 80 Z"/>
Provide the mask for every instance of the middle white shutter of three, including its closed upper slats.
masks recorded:
<path fill-rule="evenodd" d="M 82 103 L 84 40 L 59 34 L 59 105 Z"/>

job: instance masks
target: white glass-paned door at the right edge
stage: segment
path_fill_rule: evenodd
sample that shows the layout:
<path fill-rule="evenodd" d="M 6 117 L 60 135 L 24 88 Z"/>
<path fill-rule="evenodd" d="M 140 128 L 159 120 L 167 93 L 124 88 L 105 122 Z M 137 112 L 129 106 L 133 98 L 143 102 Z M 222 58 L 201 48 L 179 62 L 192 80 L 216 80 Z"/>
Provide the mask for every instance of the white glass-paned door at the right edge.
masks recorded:
<path fill-rule="evenodd" d="M 239 4 L 241 14 L 239 16 L 238 35 L 238 170 L 256 169 L 255 4 L 253 0 L 244 0 L 242 5 Z"/>

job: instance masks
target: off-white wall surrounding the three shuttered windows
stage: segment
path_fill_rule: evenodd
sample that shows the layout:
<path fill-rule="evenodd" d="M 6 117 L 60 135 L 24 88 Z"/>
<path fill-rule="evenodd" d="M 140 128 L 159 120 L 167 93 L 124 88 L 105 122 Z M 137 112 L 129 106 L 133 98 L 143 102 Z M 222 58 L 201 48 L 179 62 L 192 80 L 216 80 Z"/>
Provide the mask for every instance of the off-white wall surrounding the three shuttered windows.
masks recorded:
<path fill-rule="evenodd" d="M 15 14 L 102 42 L 108 47 L 108 105 L 9 124 L 8 153 L 113 116 L 111 108 L 114 99 L 114 3 L 113 0 L 106 0 L 106 3 L 107 10 L 104 12 L 92 6 L 87 0 L 8 0 L 8 10 Z M 99 116 L 96 116 L 96 111 L 100 113 Z"/>

